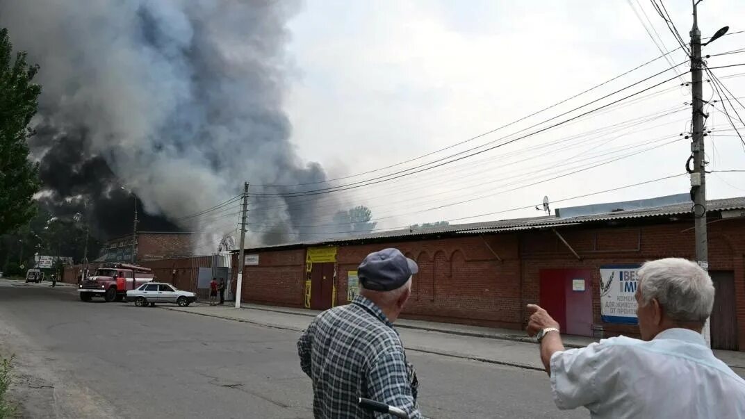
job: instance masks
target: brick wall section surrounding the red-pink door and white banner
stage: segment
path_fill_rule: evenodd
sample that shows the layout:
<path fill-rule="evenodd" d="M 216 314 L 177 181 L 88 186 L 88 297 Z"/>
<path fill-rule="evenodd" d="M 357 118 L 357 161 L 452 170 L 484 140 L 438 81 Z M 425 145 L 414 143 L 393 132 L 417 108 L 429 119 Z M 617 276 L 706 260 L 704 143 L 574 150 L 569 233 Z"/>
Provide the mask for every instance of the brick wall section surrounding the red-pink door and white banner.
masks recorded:
<path fill-rule="evenodd" d="M 690 222 L 657 224 L 633 228 L 568 227 L 559 230 L 569 245 L 582 256 L 577 258 L 553 232 L 523 233 L 522 306 L 540 299 L 539 272 L 548 268 L 591 269 L 593 321 L 600 321 L 600 266 L 641 264 L 663 257 L 694 259 L 694 231 Z M 738 339 L 745 348 L 745 221 L 721 221 L 709 228 L 709 270 L 735 271 L 738 309 Z M 606 335 L 638 335 L 636 326 L 603 324 Z"/>

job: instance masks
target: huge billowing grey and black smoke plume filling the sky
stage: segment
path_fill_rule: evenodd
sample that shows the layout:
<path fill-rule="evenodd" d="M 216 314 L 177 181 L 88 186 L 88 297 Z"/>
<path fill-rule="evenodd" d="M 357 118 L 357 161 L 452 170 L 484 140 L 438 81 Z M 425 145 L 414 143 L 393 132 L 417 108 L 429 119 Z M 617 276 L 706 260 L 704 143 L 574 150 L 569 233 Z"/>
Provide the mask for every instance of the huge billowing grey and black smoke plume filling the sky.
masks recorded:
<path fill-rule="evenodd" d="M 101 209 L 130 213 L 125 185 L 155 218 L 222 236 L 237 216 L 179 220 L 237 195 L 244 180 L 323 180 L 320 166 L 295 154 L 282 110 L 285 23 L 296 9 L 270 0 L 0 0 L 0 26 L 41 66 L 31 146 L 44 199 L 88 199 L 114 235 L 131 217 Z M 288 233 L 308 230 L 282 226 L 320 217 L 284 200 L 260 205 L 280 209 L 252 214 L 252 230 L 270 231 L 250 235 L 254 244 L 297 238 Z"/>

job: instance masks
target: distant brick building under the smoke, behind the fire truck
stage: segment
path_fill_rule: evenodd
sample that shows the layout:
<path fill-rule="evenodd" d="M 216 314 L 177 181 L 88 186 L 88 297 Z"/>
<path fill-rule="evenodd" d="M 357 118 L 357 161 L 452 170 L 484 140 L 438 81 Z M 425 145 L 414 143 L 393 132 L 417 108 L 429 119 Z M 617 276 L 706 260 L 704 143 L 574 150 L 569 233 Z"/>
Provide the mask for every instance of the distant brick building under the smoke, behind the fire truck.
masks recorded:
<path fill-rule="evenodd" d="M 111 239 L 101 249 L 96 262 L 130 262 L 132 260 L 132 235 Z M 196 236 L 190 232 L 142 231 L 137 233 L 136 261 L 169 259 L 192 256 Z"/>

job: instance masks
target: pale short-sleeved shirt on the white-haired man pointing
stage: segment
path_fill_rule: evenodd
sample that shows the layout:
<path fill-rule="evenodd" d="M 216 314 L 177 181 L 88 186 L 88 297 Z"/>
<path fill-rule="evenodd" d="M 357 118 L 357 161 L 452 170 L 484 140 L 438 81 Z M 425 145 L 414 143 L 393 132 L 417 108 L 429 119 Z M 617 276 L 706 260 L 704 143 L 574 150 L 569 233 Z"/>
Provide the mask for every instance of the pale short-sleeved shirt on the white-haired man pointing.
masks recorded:
<path fill-rule="evenodd" d="M 592 418 L 745 418 L 745 380 L 687 329 L 554 353 L 551 391 L 559 409 Z"/>

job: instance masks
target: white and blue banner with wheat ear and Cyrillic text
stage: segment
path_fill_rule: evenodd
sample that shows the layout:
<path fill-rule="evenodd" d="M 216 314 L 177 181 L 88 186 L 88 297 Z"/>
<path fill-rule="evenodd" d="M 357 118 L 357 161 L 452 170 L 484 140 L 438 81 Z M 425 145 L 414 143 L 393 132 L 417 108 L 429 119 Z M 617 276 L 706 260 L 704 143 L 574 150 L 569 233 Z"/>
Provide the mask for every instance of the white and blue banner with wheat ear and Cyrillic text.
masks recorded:
<path fill-rule="evenodd" d="M 638 324 L 634 294 L 639 267 L 600 266 L 600 317 L 605 323 Z"/>

